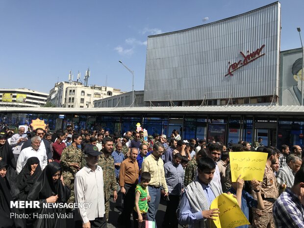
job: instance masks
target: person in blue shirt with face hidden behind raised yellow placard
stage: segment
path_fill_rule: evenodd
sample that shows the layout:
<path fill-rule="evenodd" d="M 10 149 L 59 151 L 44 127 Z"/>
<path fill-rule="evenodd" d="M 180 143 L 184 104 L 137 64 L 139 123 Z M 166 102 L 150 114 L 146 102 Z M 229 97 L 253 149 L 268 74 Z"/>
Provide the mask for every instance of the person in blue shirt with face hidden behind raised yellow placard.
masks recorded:
<path fill-rule="evenodd" d="M 230 181 L 231 181 L 231 174 L 230 174 Z M 264 202 L 261 196 L 261 186 L 260 183 L 253 179 L 251 181 L 251 186 L 253 191 L 256 194 L 257 200 L 255 200 L 252 195 L 250 195 L 248 192 L 243 190 L 244 187 L 244 180 L 241 178 L 241 175 L 236 179 L 236 182 L 231 181 L 231 188 L 228 189 L 227 192 L 230 192 L 234 195 L 236 195 L 236 200 L 238 205 L 240 206 L 241 210 L 245 214 L 246 218 L 249 220 L 249 208 L 258 208 L 260 210 L 264 210 Z M 238 228 L 248 228 L 248 225 L 240 226 Z"/>

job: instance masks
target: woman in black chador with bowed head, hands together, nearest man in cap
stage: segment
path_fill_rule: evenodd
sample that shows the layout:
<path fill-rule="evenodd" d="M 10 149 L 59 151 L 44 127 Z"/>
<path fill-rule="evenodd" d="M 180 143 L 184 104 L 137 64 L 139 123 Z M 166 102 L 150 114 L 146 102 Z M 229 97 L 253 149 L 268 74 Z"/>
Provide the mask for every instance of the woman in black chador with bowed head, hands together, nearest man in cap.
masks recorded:
<path fill-rule="evenodd" d="M 44 208 L 43 203 L 66 203 L 70 198 L 70 189 L 63 183 L 61 165 L 49 163 L 42 171 L 27 195 L 28 201 L 39 201 L 40 208 L 28 208 L 30 220 L 27 227 L 32 228 L 65 228 L 66 219 L 58 218 L 65 214 L 65 208 Z"/>

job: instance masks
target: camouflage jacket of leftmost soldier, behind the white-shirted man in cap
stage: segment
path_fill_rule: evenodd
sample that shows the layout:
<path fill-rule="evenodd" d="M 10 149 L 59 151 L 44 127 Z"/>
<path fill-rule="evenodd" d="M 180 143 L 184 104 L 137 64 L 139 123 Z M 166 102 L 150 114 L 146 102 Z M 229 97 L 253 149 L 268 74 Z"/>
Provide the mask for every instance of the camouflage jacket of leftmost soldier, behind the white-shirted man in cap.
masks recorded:
<path fill-rule="evenodd" d="M 77 173 L 77 169 L 69 166 L 70 163 L 77 163 L 81 165 L 82 152 L 79 148 L 73 147 L 73 145 L 66 147 L 60 158 L 60 164 L 62 166 L 62 175 L 67 179 L 74 179 Z"/>

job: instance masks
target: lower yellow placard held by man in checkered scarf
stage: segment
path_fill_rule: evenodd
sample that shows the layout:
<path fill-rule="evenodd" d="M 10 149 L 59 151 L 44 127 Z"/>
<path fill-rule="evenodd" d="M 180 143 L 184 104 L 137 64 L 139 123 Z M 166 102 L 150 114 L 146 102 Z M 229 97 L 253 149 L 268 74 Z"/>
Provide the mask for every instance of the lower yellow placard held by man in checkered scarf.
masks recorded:
<path fill-rule="evenodd" d="M 232 194 L 223 193 L 212 201 L 210 209 L 219 208 L 219 217 L 211 220 L 212 228 L 235 228 L 243 225 L 250 225 L 243 211 L 237 204 Z"/>

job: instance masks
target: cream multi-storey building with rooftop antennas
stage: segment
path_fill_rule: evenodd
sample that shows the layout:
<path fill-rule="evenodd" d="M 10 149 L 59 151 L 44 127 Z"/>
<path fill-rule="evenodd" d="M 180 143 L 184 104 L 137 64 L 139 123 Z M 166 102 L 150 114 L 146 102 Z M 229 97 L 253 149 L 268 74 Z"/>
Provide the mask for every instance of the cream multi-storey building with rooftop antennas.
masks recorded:
<path fill-rule="evenodd" d="M 63 81 L 57 82 L 51 89 L 48 101 L 56 107 L 88 108 L 94 107 L 96 100 L 123 93 L 108 86 L 85 86 L 78 81 Z"/>

